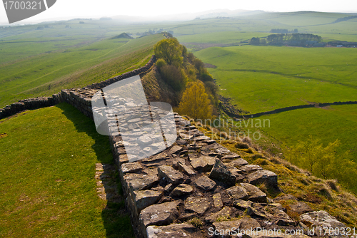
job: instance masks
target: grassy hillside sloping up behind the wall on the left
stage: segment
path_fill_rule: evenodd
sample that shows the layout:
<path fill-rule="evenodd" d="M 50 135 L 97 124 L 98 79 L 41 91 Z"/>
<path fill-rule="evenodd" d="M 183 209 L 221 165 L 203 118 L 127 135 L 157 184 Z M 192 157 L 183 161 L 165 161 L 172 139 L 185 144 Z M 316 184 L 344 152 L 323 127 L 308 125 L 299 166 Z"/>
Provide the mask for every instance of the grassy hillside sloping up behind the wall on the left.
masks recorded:
<path fill-rule="evenodd" d="M 149 61 L 154 44 L 162 35 L 106 39 L 86 46 L 40 53 L 28 58 L 0 64 L 0 106 L 19 99 L 51 95 L 64 88 L 83 87 L 104 81 Z M 6 44 L 6 55 L 28 52 L 25 47 L 11 48 L 19 43 Z M 5 44 L 4 44 L 5 45 Z M 49 47 L 46 45 L 46 47 Z"/>

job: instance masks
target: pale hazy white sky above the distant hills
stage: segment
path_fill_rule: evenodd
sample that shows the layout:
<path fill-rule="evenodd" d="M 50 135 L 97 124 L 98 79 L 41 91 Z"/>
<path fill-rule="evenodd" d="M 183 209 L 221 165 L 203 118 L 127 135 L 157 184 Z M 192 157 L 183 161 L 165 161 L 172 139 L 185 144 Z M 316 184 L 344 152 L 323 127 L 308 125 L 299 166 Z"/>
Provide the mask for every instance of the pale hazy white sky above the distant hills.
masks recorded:
<path fill-rule="evenodd" d="M 28 0 L 9 0 L 28 1 Z M 7 22 L 4 5 L 0 6 L 0 23 Z M 43 13 L 24 21 L 38 21 L 39 19 L 53 19 L 71 17 L 101 17 L 101 16 L 158 16 L 183 13 L 195 13 L 213 9 L 246 9 L 263 11 L 340 11 L 357 12 L 356 0 L 345 1 L 278 1 L 278 0 L 253 0 L 253 1 L 226 1 L 226 0 L 57 0 L 56 4 Z M 24 23 L 19 21 L 15 24 Z"/>

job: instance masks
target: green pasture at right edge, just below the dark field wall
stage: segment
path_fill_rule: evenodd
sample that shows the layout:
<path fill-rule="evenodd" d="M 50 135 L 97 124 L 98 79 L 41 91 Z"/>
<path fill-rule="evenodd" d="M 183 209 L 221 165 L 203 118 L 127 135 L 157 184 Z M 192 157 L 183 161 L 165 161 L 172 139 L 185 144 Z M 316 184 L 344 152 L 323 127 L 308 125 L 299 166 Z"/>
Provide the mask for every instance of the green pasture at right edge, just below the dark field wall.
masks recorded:
<path fill-rule="evenodd" d="M 340 140 L 338 155 L 357 162 L 357 105 L 305 108 L 263 115 L 259 119 L 270 120 L 270 127 L 259 129 L 280 144 L 296 145 L 310 135 L 321 139 L 324 146 Z"/>

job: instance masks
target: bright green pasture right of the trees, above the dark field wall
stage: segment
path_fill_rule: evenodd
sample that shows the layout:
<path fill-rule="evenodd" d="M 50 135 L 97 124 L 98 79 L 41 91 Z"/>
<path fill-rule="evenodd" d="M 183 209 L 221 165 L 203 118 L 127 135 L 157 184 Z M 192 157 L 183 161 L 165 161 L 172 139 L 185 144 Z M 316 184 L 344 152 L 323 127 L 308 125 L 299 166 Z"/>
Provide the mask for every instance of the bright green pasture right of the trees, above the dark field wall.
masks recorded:
<path fill-rule="evenodd" d="M 356 48 L 233 46 L 195 53 L 221 94 L 259 113 L 291 105 L 357 100 Z"/>

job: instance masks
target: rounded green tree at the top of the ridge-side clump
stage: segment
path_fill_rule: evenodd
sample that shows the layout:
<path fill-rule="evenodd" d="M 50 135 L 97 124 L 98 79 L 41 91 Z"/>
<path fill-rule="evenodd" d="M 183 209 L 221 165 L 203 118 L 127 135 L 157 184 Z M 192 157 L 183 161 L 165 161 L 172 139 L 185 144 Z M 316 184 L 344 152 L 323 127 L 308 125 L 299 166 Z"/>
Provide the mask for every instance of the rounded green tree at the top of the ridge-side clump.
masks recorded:
<path fill-rule="evenodd" d="M 176 38 L 159 41 L 154 46 L 154 52 L 157 58 L 163 58 L 169 65 L 180 66 L 183 61 L 183 47 Z"/>

